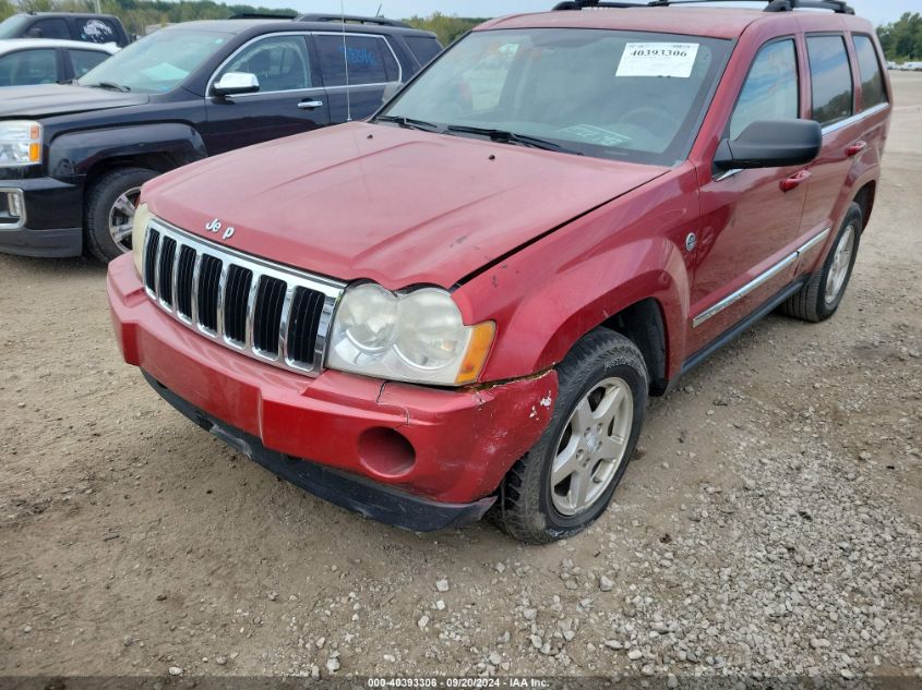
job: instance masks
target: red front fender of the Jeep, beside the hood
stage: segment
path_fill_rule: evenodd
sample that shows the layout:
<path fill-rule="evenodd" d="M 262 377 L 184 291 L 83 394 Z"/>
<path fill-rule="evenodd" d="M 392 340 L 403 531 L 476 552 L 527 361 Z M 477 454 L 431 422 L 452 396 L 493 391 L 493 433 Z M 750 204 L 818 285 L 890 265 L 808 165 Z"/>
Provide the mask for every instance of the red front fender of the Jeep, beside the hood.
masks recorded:
<path fill-rule="evenodd" d="M 662 316 L 664 373 L 679 372 L 693 265 L 683 245 L 698 218 L 696 187 L 685 174 L 649 186 L 524 247 L 455 291 L 466 323 L 498 325 L 481 380 L 549 368 L 588 331 L 645 299 L 654 299 Z"/>

